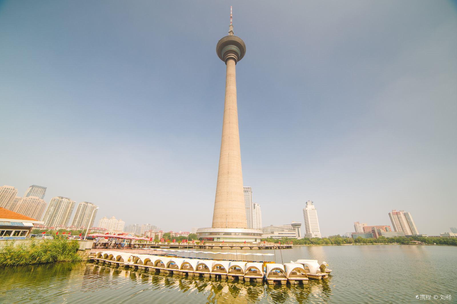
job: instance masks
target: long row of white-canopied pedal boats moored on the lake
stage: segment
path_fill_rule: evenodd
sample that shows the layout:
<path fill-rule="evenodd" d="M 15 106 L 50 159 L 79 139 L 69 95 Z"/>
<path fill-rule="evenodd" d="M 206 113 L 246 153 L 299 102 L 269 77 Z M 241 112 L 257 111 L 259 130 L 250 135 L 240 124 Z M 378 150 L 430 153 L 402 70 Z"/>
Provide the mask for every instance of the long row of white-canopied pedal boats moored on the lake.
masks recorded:
<path fill-rule="evenodd" d="M 96 252 L 92 257 L 96 263 L 113 266 L 133 267 L 182 276 L 202 276 L 245 281 L 273 283 L 308 283 L 308 279 L 328 278 L 330 269 L 326 262 L 300 259 L 296 262 L 278 264 L 273 262 L 219 261 L 173 256 L 132 254 L 116 251 Z"/>

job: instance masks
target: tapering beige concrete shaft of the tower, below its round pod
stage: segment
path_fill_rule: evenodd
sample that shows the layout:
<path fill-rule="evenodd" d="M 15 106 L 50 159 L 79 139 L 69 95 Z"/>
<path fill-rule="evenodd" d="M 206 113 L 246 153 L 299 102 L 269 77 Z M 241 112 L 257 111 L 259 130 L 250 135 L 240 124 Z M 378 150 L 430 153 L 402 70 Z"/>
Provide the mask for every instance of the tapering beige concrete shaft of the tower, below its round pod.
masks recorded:
<path fill-rule="evenodd" d="M 225 105 L 213 228 L 247 228 L 239 147 L 234 58 L 227 59 Z"/>

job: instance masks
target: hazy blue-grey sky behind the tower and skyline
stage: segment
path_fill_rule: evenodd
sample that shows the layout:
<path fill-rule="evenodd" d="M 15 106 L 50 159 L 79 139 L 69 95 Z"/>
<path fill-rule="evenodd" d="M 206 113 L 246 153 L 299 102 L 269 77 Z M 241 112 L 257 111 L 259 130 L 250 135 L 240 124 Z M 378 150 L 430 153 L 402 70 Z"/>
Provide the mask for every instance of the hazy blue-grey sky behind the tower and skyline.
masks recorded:
<path fill-rule="evenodd" d="M 97 204 L 96 225 L 211 226 L 230 5 L 264 226 L 307 200 L 324 236 L 392 209 L 457 226 L 452 1 L 0 2 L 0 184 Z"/>

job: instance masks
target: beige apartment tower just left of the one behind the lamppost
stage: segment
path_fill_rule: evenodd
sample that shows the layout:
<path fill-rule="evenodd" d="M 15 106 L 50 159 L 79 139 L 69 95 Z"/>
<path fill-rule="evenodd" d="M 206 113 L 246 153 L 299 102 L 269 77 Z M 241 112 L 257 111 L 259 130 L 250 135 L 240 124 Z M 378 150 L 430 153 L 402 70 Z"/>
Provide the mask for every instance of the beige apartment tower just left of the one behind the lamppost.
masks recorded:
<path fill-rule="evenodd" d="M 68 197 L 56 196 L 49 202 L 43 217 L 45 226 L 68 226 L 75 202 Z"/>

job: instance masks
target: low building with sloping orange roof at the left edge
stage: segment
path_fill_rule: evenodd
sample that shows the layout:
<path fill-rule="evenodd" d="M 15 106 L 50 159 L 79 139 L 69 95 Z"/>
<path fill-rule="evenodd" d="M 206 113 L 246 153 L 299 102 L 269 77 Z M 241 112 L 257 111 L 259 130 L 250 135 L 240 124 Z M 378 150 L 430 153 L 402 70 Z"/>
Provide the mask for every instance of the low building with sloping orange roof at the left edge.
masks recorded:
<path fill-rule="evenodd" d="M 43 222 L 31 217 L 0 207 L 0 237 L 25 238 L 34 228 L 34 224 L 42 225 Z"/>

